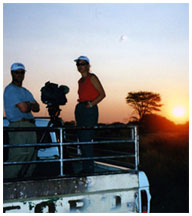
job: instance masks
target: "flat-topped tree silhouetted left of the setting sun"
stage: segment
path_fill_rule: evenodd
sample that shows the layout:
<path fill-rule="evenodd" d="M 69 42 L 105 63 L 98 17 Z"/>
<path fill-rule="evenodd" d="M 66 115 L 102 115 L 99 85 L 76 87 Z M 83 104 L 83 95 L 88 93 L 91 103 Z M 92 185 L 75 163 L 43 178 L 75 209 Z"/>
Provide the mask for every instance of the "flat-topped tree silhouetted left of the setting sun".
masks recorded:
<path fill-rule="evenodd" d="M 147 114 L 151 114 L 153 111 L 160 111 L 162 104 L 160 94 L 139 91 L 139 92 L 129 92 L 126 97 L 126 102 L 136 111 L 139 118 L 137 120 L 143 119 Z"/>

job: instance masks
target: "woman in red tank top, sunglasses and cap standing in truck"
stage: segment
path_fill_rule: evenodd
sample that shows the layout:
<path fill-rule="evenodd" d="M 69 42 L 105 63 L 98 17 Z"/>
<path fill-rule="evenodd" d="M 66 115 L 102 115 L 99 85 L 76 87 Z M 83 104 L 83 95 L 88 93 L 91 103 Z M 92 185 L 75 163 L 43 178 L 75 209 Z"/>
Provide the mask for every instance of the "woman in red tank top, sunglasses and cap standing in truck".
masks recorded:
<path fill-rule="evenodd" d="M 98 123 L 98 106 L 106 96 L 105 91 L 98 77 L 90 73 L 90 61 L 86 56 L 80 56 L 74 60 L 77 70 L 81 74 L 78 81 L 78 104 L 75 108 L 76 124 L 79 127 L 94 127 Z M 80 130 L 78 132 L 79 141 L 91 141 L 93 139 L 93 130 Z M 91 157 L 93 155 L 92 145 L 81 145 L 82 157 Z M 84 161 L 83 172 L 94 172 L 94 162 Z"/>

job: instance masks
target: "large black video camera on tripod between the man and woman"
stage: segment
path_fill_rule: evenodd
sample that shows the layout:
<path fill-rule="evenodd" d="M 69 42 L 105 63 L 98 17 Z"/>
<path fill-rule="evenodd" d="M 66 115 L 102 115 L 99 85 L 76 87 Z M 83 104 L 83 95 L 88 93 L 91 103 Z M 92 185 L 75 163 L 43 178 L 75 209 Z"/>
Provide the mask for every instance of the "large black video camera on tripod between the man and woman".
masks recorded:
<path fill-rule="evenodd" d="M 69 92 L 69 88 L 65 85 L 46 82 L 45 86 L 41 88 L 41 101 L 50 106 L 65 105 L 67 103 L 66 94 Z"/>

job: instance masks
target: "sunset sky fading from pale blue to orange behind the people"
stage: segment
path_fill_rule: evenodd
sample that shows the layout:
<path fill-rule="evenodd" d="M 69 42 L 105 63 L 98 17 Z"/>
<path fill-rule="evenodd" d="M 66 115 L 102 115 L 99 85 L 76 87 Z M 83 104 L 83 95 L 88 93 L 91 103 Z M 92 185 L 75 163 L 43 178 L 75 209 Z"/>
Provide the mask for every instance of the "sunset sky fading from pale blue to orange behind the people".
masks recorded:
<path fill-rule="evenodd" d="M 23 63 L 23 86 L 40 103 L 40 116 L 48 115 L 40 89 L 50 81 L 70 88 L 61 117 L 74 120 L 80 78 L 74 59 L 86 55 L 106 92 L 99 122 L 127 123 L 130 91 L 159 93 L 159 114 L 188 120 L 187 3 L 3 4 L 3 46 L 3 89 L 11 82 L 11 64 Z M 182 115 L 175 113 L 179 107 Z"/>

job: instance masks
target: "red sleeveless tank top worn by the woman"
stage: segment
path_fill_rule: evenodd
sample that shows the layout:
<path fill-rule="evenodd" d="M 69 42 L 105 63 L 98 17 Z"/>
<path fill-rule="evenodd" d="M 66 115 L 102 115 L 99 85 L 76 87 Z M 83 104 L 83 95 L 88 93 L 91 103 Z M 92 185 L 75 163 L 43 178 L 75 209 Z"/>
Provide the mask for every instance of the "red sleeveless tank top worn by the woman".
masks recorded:
<path fill-rule="evenodd" d="M 84 82 L 78 81 L 79 102 L 93 101 L 99 95 L 99 92 L 91 82 L 91 75 L 88 75 Z"/>

